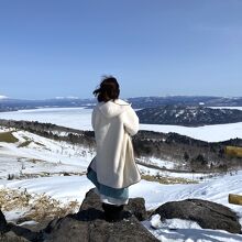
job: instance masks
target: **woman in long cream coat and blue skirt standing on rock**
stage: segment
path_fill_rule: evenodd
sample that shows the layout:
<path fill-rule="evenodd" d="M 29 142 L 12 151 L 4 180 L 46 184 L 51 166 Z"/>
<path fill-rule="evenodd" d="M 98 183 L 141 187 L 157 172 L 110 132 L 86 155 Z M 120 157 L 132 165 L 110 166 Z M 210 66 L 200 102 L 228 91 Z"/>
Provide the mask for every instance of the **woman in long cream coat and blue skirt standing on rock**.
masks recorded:
<path fill-rule="evenodd" d="M 98 103 L 91 117 L 97 154 L 87 177 L 96 186 L 108 221 L 122 219 L 123 205 L 129 201 L 128 188 L 141 179 L 131 141 L 139 130 L 139 118 L 128 102 L 119 99 L 119 94 L 114 77 L 102 79 L 94 91 Z"/>

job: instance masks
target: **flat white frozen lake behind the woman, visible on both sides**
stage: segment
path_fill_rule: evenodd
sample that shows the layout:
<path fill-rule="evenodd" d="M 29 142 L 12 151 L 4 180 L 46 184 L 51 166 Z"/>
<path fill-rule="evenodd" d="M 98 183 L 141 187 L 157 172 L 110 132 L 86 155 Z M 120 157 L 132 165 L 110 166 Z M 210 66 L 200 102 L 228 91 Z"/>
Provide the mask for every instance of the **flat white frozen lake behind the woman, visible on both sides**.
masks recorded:
<path fill-rule="evenodd" d="M 241 107 L 235 108 L 242 109 Z M 50 122 L 79 130 L 92 130 L 90 118 L 91 109 L 84 108 L 46 108 L 35 110 L 20 110 L 15 112 L 0 112 L 0 119 Z M 164 133 L 176 132 L 194 139 L 210 142 L 242 138 L 242 122 L 230 124 L 205 125 L 197 128 L 179 125 L 141 124 L 140 129 Z"/>

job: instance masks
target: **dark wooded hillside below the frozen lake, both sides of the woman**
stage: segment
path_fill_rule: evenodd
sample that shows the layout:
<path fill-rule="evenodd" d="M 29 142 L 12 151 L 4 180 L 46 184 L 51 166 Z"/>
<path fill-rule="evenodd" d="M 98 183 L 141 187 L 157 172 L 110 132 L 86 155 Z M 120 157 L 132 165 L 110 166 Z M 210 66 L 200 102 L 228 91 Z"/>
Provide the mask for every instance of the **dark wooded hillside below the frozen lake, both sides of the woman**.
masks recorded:
<path fill-rule="evenodd" d="M 29 121 L 0 120 L 0 125 L 8 129 L 26 131 L 56 142 L 66 142 L 69 145 L 79 145 L 84 148 L 95 150 L 92 131 L 80 131 L 51 123 Z M 26 135 L 25 135 L 26 136 Z M 28 139 L 26 141 L 30 141 Z M 25 146 L 28 143 L 25 143 Z M 133 138 L 133 146 L 140 163 L 148 162 L 164 168 L 161 161 L 172 162 L 169 169 L 187 172 L 224 172 L 241 167 L 241 160 L 224 154 L 226 145 L 242 146 L 241 139 L 224 142 L 205 142 L 177 133 L 161 133 L 153 131 L 139 131 Z M 145 162 L 146 163 L 146 162 Z M 163 164 L 163 165 L 158 165 Z M 152 166 L 153 167 L 153 166 Z"/>

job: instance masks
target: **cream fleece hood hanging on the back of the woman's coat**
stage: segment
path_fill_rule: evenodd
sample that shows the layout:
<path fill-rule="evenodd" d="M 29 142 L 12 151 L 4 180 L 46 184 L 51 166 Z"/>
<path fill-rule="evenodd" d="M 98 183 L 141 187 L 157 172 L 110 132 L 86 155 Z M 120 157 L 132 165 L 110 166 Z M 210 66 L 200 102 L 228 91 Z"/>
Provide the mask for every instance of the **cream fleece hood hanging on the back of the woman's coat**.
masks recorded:
<path fill-rule="evenodd" d="M 129 106 L 130 103 L 121 99 L 117 99 L 114 101 L 101 102 L 99 105 L 99 110 L 106 118 L 114 118 L 124 112 Z"/>

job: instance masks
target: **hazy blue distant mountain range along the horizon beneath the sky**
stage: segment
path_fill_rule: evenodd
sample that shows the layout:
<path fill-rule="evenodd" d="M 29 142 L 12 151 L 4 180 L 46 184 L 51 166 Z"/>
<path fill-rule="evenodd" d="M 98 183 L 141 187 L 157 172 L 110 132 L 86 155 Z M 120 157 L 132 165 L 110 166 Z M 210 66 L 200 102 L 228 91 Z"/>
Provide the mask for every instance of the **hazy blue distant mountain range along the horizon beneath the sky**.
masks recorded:
<path fill-rule="evenodd" d="M 242 107 L 242 97 L 223 98 L 207 96 L 167 96 L 167 97 L 139 97 L 129 98 L 129 102 L 135 109 L 154 108 L 167 105 L 175 106 L 205 106 L 205 107 Z M 45 100 L 22 100 L 11 98 L 0 98 L 0 111 L 15 111 L 21 109 L 36 108 L 91 108 L 96 99 L 55 98 Z"/>

